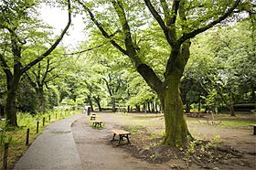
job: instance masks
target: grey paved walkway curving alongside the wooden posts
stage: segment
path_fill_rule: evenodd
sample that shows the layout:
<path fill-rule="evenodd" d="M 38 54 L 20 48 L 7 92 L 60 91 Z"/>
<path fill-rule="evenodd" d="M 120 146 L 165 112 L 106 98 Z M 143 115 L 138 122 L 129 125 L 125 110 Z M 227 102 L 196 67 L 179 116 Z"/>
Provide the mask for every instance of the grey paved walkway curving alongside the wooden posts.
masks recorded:
<path fill-rule="evenodd" d="M 82 116 L 74 115 L 49 124 L 14 169 L 82 169 L 80 155 L 70 130 L 71 124 Z"/>

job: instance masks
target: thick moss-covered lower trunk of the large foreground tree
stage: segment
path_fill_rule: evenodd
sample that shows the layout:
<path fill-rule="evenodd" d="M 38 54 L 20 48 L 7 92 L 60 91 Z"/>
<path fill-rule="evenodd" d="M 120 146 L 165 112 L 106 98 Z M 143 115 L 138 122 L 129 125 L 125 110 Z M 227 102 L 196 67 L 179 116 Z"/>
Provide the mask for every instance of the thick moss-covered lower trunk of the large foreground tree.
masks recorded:
<path fill-rule="evenodd" d="M 187 143 L 187 122 L 184 117 L 183 103 L 179 90 L 180 77 L 176 72 L 167 77 L 166 89 L 162 102 L 164 102 L 165 114 L 165 140 L 164 144 L 181 146 Z"/>

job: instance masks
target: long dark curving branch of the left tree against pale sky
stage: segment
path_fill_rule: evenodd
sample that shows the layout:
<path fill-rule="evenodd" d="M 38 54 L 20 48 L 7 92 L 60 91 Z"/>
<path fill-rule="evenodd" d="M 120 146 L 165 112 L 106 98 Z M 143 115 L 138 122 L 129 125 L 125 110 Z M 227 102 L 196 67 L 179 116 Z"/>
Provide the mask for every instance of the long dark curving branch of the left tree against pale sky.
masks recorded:
<path fill-rule="evenodd" d="M 59 42 L 63 39 L 64 35 L 67 33 L 67 31 L 69 29 L 69 26 L 71 24 L 71 4 L 70 4 L 70 0 L 68 0 L 68 11 L 69 11 L 69 21 L 68 21 L 67 26 L 64 28 L 64 30 L 60 34 L 59 38 L 55 41 L 55 43 L 50 48 L 48 48 L 48 50 L 44 54 L 42 54 L 39 58 L 33 60 L 32 62 L 27 64 L 27 66 L 25 66 L 23 69 L 21 69 L 21 74 L 25 73 L 28 69 L 30 69 L 31 67 L 36 65 L 43 58 L 46 58 L 55 48 L 57 48 L 57 46 L 59 45 Z"/>

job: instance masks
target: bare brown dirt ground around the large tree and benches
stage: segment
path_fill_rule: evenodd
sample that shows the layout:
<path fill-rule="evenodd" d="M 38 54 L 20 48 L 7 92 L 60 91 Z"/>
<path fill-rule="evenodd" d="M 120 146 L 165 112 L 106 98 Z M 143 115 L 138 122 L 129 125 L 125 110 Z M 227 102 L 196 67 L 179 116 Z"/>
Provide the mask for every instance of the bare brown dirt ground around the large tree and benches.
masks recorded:
<path fill-rule="evenodd" d="M 208 124 L 206 118 L 187 118 L 190 133 L 203 141 L 177 149 L 160 144 L 165 130 L 163 114 L 96 114 L 102 128 L 91 127 L 89 116 L 71 128 L 83 169 L 256 169 L 256 135 L 251 127 L 231 128 L 218 122 Z M 253 116 L 244 119 L 255 121 Z M 111 142 L 112 129 L 132 132 L 132 144 L 124 140 L 116 146 L 117 142 Z"/>

